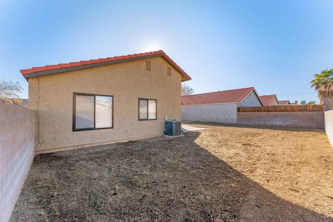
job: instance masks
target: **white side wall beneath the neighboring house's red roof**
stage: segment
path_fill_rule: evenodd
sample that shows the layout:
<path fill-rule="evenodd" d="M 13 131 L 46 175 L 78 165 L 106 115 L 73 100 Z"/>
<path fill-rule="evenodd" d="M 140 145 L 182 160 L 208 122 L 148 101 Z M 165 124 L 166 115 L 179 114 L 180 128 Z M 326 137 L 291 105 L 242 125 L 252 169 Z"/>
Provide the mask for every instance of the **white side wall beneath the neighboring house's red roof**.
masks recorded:
<path fill-rule="evenodd" d="M 182 105 L 182 121 L 237 123 L 237 104 Z"/>

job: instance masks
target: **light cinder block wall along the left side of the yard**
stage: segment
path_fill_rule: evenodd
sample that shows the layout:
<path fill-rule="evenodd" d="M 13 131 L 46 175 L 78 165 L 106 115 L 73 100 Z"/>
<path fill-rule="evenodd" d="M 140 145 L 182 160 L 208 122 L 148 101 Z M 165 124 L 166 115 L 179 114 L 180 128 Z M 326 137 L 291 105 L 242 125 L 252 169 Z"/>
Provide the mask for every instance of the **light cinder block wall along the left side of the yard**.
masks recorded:
<path fill-rule="evenodd" d="M 0 102 L 0 222 L 10 219 L 34 156 L 35 111 Z"/>

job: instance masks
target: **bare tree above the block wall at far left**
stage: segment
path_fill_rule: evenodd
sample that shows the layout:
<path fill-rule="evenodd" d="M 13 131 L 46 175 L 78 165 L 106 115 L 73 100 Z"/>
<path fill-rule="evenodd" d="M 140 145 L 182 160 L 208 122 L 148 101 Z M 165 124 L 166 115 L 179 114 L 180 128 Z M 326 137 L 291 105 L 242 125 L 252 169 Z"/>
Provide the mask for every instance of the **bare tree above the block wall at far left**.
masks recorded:
<path fill-rule="evenodd" d="M 0 80 L 0 100 L 7 103 L 22 103 L 19 93 L 22 93 L 19 82 Z"/>

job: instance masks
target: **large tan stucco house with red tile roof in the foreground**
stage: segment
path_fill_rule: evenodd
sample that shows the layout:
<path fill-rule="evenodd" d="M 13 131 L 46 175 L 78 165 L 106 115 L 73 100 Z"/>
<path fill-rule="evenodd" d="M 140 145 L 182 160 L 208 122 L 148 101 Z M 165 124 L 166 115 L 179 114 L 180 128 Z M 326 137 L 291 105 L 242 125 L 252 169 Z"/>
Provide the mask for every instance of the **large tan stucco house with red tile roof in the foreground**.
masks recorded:
<path fill-rule="evenodd" d="M 180 119 L 181 82 L 162 50 L 21 70 L 38 113 L 37 153 L 161 136 Z"/>

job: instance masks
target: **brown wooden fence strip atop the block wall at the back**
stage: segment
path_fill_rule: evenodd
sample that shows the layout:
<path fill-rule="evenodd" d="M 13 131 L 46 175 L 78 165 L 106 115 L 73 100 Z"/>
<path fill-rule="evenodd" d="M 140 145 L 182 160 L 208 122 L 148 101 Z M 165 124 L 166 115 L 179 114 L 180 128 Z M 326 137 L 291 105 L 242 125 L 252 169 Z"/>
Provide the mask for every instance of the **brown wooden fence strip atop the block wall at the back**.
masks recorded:
<path fill-rule="evenodd" d="M 238 107 L 239 112 L 309 112 L 324 111 L 324 105 L 286 105 L 272 107 Z"/>

